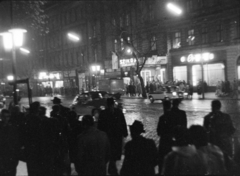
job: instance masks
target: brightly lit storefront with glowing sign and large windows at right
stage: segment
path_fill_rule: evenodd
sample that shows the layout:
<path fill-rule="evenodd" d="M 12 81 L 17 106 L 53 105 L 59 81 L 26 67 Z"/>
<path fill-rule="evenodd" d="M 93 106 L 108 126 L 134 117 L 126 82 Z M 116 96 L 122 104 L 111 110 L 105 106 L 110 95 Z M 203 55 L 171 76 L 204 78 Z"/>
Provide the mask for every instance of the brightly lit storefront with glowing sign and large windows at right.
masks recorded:
<path fill-rule="evenodd" d="M 218 81 L 226 79 L 225 55 L 224 51 L 173 55 L 173 80 L 196 86 L 204 78 L 209 87 L 216 87 Z"/>

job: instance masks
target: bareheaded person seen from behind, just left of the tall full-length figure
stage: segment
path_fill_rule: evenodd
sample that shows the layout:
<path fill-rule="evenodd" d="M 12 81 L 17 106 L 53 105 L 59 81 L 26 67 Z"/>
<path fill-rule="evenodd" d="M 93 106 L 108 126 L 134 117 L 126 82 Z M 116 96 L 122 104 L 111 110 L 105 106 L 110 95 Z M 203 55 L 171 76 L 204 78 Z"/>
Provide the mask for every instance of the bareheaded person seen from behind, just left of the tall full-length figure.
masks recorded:
<path fill-rule="evenodd" d="M 78 136 L 77 172 L 79 175 L 106 175 L 110 143 L 106 133 L 94 127 L 93 117 L 83 116 L 83 133 Z"/>

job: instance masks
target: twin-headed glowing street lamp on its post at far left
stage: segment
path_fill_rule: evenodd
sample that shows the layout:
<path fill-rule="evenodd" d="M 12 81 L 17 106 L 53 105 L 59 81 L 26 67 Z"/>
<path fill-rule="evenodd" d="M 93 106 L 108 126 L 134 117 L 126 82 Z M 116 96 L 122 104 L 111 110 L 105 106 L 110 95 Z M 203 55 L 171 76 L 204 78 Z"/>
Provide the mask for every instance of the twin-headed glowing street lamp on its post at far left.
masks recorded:
<path fill-rule="evenodd" d="M 10 29 L 8 32 L 4 32 L 1 35 L 3 36 L 3 44 L 6 50 L 12 50 L 12 72 L 13 78 L 16 78 L 16 48 L 21 47 L 23 44 L 23 34 L 26 33 L 25 29 Z M 13 83 L 13 98 L 14 104 L 17 105 L 17 84 Z"/>

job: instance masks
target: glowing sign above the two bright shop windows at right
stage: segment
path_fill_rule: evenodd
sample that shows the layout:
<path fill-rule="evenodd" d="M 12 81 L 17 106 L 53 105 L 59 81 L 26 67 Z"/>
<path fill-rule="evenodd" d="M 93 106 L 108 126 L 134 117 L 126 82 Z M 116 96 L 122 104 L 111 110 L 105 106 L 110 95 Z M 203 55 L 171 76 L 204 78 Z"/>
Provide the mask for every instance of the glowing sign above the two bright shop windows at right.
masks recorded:
<path fill-rule="evenodd" d="M 200 62 L 200 61 L 210 61 L 214 59 L 213 53 L 202 53 L 202 54 L 189 54 L 187 58 L 182 56 L 180 58 L 181 62 Z"/>

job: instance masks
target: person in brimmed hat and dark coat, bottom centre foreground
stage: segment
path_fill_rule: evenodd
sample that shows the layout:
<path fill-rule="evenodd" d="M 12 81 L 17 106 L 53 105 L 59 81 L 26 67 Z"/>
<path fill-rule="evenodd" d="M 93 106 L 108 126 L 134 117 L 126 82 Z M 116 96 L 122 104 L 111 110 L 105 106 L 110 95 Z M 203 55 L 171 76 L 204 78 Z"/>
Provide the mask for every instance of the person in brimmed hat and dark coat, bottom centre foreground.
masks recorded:
<path fill-rule="evenodd" d="M 155 175 L 157 148 L 154 141 L 141 136 L 145 131 L 140 121 L 134 121 L 130 132 L 132 140 L 125 146 L 121 175 Z"/>

